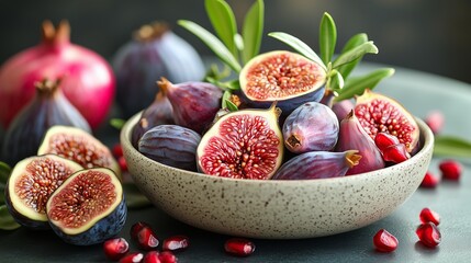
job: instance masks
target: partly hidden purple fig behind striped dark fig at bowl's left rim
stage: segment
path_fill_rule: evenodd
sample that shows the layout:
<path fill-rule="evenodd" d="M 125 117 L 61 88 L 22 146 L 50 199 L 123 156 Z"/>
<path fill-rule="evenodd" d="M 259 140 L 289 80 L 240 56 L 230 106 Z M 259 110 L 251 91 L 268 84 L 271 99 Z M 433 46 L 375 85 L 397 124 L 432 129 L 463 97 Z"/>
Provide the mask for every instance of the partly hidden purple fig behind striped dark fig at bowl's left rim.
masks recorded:
<path fill-rule="evenodd" d="M 162 92 L 158 92 L 154 102 L 144 110 L 134 126 L 131 142 L 137 149 L 141 137 L 150 128 L 162 124 L 175 124 L 173 110 L 167 96 Z"/>

